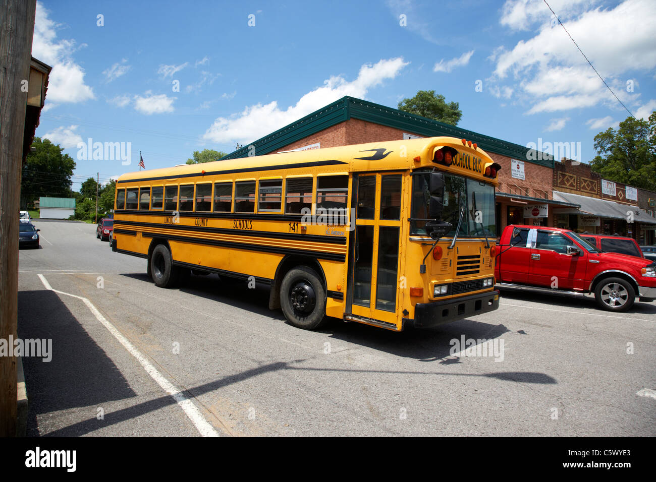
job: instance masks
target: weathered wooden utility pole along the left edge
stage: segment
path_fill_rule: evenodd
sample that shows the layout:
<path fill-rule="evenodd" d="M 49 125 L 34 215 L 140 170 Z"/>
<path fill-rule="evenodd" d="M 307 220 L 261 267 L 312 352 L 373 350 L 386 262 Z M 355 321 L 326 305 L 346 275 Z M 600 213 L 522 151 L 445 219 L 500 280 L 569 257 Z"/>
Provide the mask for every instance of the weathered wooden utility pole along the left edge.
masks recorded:
<path fill-rule="evenodd" d="M 18 338 L 18 211 L 36 0 L 0 3 L 0 339 Z M 13 346 L 8 347 L 13 355 Z M 16 436 L 16 358 L 0 356 L 0 437 Z"/>

